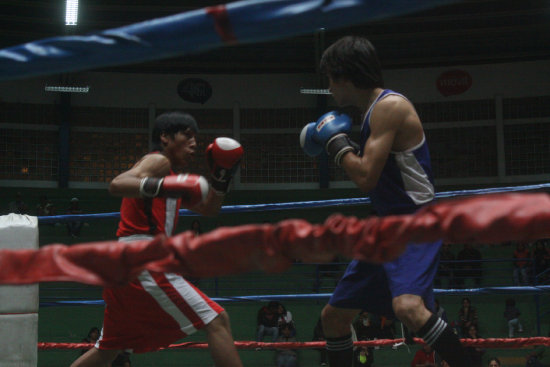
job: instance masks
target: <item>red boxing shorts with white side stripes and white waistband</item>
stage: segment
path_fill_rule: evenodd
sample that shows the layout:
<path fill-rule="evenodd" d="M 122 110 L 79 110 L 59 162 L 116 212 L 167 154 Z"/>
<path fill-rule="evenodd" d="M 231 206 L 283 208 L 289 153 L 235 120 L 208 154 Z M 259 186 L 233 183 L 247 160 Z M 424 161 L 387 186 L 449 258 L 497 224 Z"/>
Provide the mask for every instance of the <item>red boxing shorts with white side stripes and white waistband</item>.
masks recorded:
<path fill-rule="evenodd" d="M 146 238 L 151 236 L 133 235 L 119 241 Z M 148 270 L 124 286 L 105 288 L 103 299 L 103 328 L 96 348 L 135 353 L 167 347 L 204 328 L 223 312 L 181 275 Z"/>

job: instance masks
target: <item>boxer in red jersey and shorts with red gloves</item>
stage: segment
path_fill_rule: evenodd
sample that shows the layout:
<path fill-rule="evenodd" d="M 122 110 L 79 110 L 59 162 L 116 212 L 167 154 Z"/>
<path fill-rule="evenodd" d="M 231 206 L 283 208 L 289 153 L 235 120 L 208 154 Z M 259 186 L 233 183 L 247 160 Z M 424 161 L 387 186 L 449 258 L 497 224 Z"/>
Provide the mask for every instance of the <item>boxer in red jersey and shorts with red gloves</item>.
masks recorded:
<path fill-rule="evenodd" d="M 195 154 L 197 133 L 189 114 L 158 116 L 152 133 L 154 151 L 111 181 L 110 193 L 123 197 L 120 241 L 173 235 L 180 207 L 202 215 L 219 212 L 243 148 L 231 138 L 215 139 L 206 150 L 209 182 L 184 172 Z M 72 367 L 110 365 L 123 350 L 154 351 L 201 329 L 216 366 L 242 367 L 227 313 L 181 275 L 143 271 L 129 284 L 105 288 L 103 298 L 101 335 Z"/>

